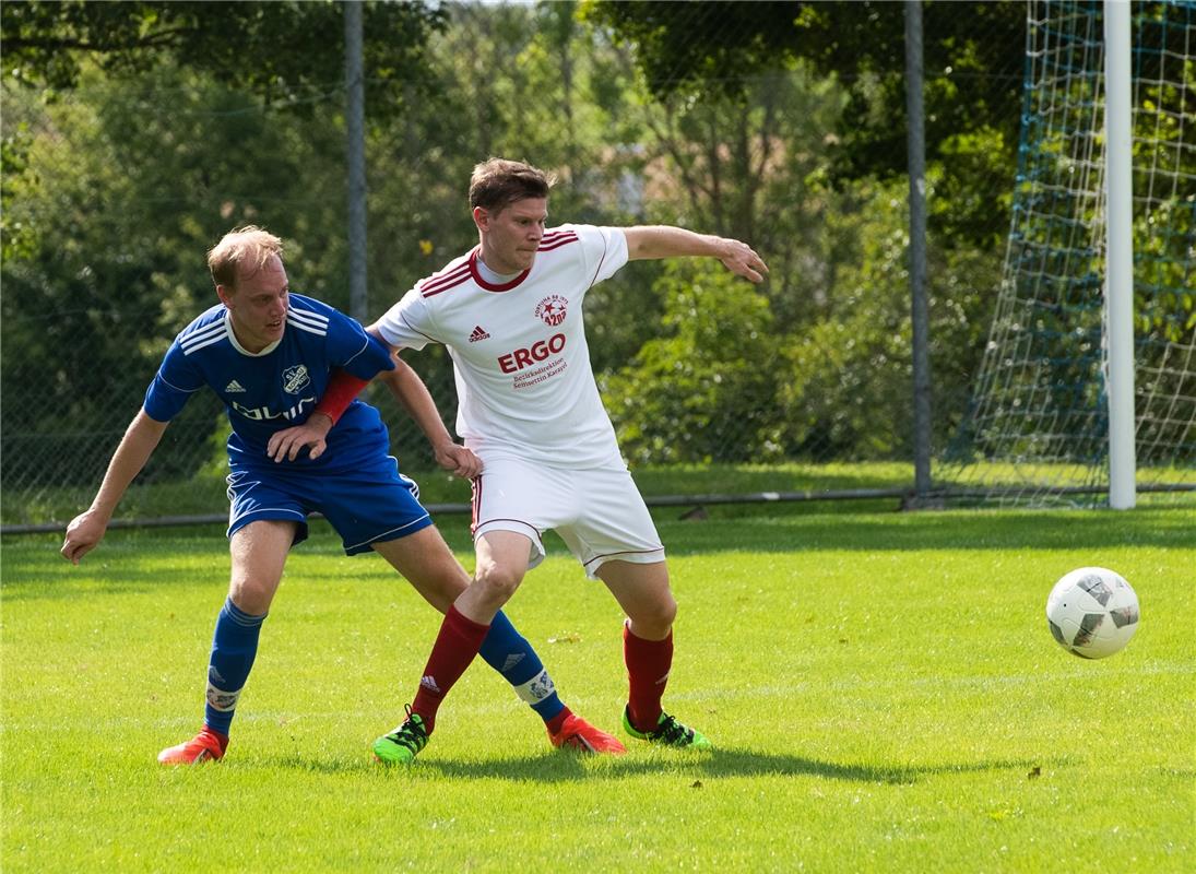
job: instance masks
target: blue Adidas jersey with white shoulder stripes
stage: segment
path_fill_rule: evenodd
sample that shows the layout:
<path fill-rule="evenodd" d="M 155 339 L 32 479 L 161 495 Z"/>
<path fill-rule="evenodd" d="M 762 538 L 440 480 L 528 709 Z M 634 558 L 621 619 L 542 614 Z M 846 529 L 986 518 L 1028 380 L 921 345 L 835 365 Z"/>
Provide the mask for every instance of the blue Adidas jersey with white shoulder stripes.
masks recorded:
<path fill-rule="evenodd" d="M 224 402 L 232 424 L 228 464 L 270 465 L 266 446 L 275 432 L 300 424 L 341 367 L 359 379 L 372 379 L 395 367 L 390 353 L 354 319 L 312 298 L 288 295 L 282 338 L 260 353 L 246 352 L 233 336 L 224 304 L 184 328 L 146 391 L 151 418 L 169 422 L 188 398 L 209 386 Z M 373 407 L 354 401 L 328 434 L 328 448 L 312 462 L 306 452 L 282 465 L 344 470 L 366 459 L 385 457 L 390 438 Z"/>

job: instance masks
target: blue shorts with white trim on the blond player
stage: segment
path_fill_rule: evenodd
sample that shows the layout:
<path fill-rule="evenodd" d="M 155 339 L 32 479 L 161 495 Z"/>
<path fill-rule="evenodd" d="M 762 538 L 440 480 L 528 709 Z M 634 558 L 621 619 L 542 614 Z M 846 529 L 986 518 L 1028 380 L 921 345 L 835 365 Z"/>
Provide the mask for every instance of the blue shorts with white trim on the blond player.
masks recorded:
<path fill-rule="evenodd" d="M 393 456 L 379 456 L 338 473 L 311 469 L 237 466 L 228 475 L 228 537 L 258 519 L 299 524 L 292 545 L 307 539 L 307 514 L 322 513 L 341 536 L 347 555 L 397 540 L 432 525 L 420 487 L 398 472 Z"/>

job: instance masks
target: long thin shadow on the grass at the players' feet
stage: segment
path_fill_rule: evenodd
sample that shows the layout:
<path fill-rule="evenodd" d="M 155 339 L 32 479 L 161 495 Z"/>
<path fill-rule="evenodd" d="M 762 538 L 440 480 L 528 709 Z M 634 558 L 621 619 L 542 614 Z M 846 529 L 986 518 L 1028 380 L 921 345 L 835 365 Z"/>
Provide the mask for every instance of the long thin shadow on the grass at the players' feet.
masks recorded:
<path fill-rule="evenodd" d="M 719 780 L 726 777 L 806 776 L 856 783 L 910 786 L 929 776 L 1020 770 L 1027 775 L 1044 764 L 1062 764 L 1043 759 L 999 759 L 963 764 L 939 765 L 865 765 L 825 762 L 805 756 L 761 753 L 751 750 L 713 750 L 709 752 L 678 752 L 670 757 L 654 754 L 624 758 L 592 759 L 578 754 L 545 752 L 518 758 L 487 760 L 441 760 L 425 757 L 409 768 L 386 768 L 367 757 L 360 759 L 323 760 L 298 753 L 270 758 L 262 764 L 313 774 L 374 772 L 396 778 L 440 776 L 451 780 L 508 780 L 539 783 L 566 783 L 586 780 L 635 776 L 682 776 L 684 780 Z M 695 788 L 698 788 L 695 786 Z"/>

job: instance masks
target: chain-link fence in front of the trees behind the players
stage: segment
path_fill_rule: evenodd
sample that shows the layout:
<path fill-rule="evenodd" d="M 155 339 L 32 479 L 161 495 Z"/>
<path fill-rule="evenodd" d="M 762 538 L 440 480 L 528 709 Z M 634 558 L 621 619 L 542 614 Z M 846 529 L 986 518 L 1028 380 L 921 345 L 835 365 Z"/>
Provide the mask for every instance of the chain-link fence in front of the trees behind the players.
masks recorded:
<path fill-rule="evenodd" d="M 640 262 L 593 289 L 594 371 L 634 470 L 909 462 L 904 130 L 875 123 L 899 94 L 899 5 L 663 6 L 675 7 L 664 10 L 670 33 L 757 47 L 746 72 L 714 68 L 695 84 L 701 65 L 684 43 L 642 63 L 621 38 L 634 31 L 616 20 L 630 8 L 582 19 L 570 4 L 447 7 L 420 47 L 420 77 L 367 104 L 367 320 L 476 243 L 472 165 L 527 159 L 559 177 L 549 224 L 679 224 L 745 239 L 771 267 L 753 288 L 713 263 Z M 889 48 L 835 73 L 825 53 L 801 60 L 769 47 L 756 6 L 843 16 L 855 41 L 877 49 L 883 32 Z M 932 127 L 965 116 L 982 92 L 996 103 L 1012 93 L 1014 106 L 1003 132 L 930 132 L 936 447 L 965 408 L 1008 227 L 1024 27 L 1023 13 L 1000 6 L 975 19 L 989 57 L 957 69 L 932 49 L 962 13 L 926 13 L 928 108 L 942 120 Z M 173 335 L 216 302 L 205 251 L 222 233 L 252 222 L 280 234 L 293 289 L 346 311 L 348 245 L 341 82 L 263 96 L 164 61 L 122 75 L 85 66 L 77 87 L 55 93 L 2 87 L 0 475 L 11 528 L 62 524 L 90 502 Z M 860 141 L 859 114 L 871 114 L 873 142 Z M 875 172 L 852 166 L 868 154 Z M 452 428 L 447 355 L 408 360 Z M 465 500 L 390 398 L 372 398 L 426 497 Z M 201 392 L 120 514 L 222 513 L 226 433 Z"/>

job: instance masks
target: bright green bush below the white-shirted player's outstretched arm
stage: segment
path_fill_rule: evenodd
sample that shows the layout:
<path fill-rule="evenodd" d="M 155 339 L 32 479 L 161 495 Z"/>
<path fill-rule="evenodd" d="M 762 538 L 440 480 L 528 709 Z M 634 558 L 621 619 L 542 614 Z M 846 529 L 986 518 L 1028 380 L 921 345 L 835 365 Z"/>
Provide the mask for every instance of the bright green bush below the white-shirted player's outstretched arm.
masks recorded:
<path fill-rule="evenodd" d="M 774 457 L 776 338 L 768 300 L 721 265 L 678 262 L 654 291 L 659 336 L 604 381 L 624 454 L 636 462 Z"/>

